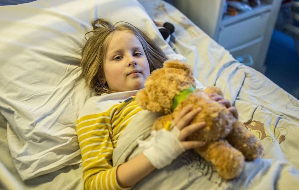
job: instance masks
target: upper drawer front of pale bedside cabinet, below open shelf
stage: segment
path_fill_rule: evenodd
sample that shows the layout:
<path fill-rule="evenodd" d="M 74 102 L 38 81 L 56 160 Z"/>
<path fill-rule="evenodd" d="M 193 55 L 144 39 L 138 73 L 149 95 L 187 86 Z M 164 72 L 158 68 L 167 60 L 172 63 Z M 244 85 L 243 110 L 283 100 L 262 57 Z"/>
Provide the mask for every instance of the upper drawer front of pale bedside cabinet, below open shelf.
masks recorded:
<path fill-rule="evenodd" d="M 225 49 L 236 49 L 258 38 L 263 38 L 270 11 L 240 20 L 220 28 L 217 42 Z M 244 47 L 242 47 L 244 48 Z"/>

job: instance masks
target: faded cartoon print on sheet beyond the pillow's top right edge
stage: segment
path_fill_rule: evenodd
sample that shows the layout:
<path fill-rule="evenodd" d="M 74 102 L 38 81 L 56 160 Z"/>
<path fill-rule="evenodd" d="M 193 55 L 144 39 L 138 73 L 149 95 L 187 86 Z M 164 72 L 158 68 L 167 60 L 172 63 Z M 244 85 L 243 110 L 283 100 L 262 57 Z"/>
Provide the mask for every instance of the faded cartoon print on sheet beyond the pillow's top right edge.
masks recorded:
<path fill-rule="evenodd" d="M 176 19 L 175 17 L 173 17 L 171 14 L 168 13 L 167 9 L 165 8 L 165 4 L 161 1 L 159 6 L 156 8 L 156 10 L 158 11 L 158 13 L 155 14 L 156 17 L 157 14 L 159 14 L 159 11 L 165 12 L 166 15 L 173 20 L 174 22 L 178 23 L 179 25 L 181 25 L 184 29 L 187 30 L 187 32 L 192 36 L 192 37 L 197 37 L 200 32 L 194 27 L 194 25 L 192 25 L 186 17 L 182 16 L 181 20 Z"/>

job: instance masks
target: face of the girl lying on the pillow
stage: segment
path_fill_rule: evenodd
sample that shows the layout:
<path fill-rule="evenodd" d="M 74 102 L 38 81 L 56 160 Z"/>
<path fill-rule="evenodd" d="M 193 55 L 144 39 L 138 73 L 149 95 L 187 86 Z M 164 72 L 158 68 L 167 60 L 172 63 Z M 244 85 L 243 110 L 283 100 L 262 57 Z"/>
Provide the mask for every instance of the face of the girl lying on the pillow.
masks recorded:
<path fill-rule="evenodd" d="M 125 31 L 112 34 L 104 58 L 104 73 L 112 92 L 144 88 L 150 66 L 138 38 Z"/>

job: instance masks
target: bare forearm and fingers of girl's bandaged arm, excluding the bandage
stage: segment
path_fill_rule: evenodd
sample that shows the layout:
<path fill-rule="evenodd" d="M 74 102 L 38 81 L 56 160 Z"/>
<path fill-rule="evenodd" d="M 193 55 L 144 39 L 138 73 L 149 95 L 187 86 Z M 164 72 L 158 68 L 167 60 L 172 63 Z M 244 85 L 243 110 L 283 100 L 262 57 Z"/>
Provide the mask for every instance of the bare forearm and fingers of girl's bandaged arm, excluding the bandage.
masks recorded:
<path fill-rule="evenodd" d="M 191 106 L 185 108 L 173 120 L 178 129 L 181 131 L 178 139 L 182 142 L 185 150 L 204 145 L 204 142 L 200 141 L 184 141 L 187 136 L 205 127 L 205 123 L 189 125 L 193 117 L 200 111 L 199 109 L 191 110 Z M 118 166 L 116 170 L 116 179 L 122 188 L 131 187 L 154 171 L 154 169 L 155 167 L 150 163 L 145 155 L 140 154 L 130 161 Z"/>

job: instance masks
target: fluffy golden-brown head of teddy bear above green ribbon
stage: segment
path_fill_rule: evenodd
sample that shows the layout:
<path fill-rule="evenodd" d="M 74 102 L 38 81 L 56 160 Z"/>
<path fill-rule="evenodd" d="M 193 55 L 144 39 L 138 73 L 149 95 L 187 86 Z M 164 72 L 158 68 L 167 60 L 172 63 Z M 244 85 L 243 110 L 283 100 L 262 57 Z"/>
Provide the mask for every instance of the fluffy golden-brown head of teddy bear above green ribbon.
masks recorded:
<path fill-rule="evenodd" d="M 196 87 L 190 66 L 183 61 L 165 61 L 163 68 L 154 70 L 146 79 L 136 101 L 145 110 L 169 114 L 173 98 L 190 87 Z"/>

